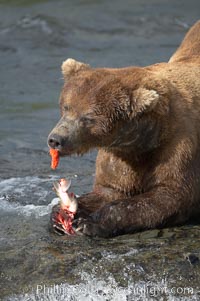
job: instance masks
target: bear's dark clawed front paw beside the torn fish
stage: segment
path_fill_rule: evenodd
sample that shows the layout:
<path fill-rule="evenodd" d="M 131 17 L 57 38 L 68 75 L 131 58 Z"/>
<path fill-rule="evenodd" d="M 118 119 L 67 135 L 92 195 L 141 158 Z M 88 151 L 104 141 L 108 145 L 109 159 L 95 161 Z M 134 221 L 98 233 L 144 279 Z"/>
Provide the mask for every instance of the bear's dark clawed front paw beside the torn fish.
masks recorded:
<path fill-rule="evenodd" d="M 76 233 L 84 234 L 91 237 L 110 237 L 111 232 L 109 229 L 104 228 L 102 225 L 92 221 L 92 219 L 79 218 L 74 220 L 73 226 Z"/>

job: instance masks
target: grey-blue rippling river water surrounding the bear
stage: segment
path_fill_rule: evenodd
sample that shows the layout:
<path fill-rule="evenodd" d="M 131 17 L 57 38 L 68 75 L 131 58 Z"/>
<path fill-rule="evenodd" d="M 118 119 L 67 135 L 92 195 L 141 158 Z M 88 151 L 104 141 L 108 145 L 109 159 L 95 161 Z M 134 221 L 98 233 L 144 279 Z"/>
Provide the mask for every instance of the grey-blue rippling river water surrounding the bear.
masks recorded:
<path fill-rule="evenodd" d="M 199 18 L 199 0 L 0 0 L 0 298 L 199 300 L 200 227 L 114 239 L 49 231 L 52 182 L 92 188 L 96 152 L 50 169 L 60 65 L 167 61 Z"/>

